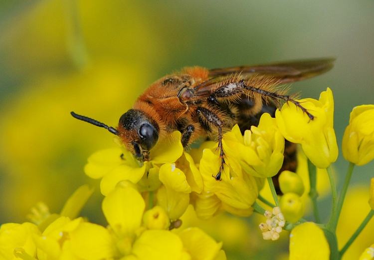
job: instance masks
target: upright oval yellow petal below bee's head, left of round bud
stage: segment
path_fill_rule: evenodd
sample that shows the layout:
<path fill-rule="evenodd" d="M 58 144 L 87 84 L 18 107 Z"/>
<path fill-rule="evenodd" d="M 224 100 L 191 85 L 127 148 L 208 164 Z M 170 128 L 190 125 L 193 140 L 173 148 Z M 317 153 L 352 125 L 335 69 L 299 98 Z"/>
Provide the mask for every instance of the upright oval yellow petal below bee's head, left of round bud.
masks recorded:
<path fill-rule="evenodd" d="M 117 186 L 104 198 L 102 209 L 118 236 L 132 237 L 141 225 L 145 202 L 134 188 Z"/>

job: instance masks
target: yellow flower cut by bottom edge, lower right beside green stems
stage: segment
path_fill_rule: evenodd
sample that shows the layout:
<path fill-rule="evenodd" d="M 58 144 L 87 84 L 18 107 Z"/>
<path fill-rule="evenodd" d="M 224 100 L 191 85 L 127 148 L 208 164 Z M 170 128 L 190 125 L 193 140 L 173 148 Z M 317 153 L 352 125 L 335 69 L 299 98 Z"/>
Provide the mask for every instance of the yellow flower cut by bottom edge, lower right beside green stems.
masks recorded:
<path fill-rule="evenodd" d="M 330 259 L 330 248 L 326 237 L 312 222 L 298 225 L 290 235 L 290 260 L 309 259 Z"/>

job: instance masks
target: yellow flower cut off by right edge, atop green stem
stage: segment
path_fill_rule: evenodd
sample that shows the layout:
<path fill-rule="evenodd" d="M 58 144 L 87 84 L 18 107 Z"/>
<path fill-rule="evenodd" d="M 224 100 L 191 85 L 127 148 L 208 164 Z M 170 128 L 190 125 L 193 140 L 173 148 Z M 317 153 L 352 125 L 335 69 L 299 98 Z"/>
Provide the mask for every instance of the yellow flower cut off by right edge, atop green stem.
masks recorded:
<path fill-rule="evenodd" d="M 343 136 L 343 156 L 364 165 L 374 159 L 374 105 L 355 107 Z"/>

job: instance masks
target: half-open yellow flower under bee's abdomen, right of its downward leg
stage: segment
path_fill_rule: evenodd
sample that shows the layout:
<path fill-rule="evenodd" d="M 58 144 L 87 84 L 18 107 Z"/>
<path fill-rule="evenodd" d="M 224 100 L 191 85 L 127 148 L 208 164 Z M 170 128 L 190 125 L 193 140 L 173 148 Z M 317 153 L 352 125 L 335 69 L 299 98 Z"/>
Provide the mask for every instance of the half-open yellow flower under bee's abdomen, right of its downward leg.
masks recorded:
<path fill-rule="evenodd" d="M 272 177 L 283 163 L 284 138 L 275 119 L 264 113 L 257 127 L 241 135 L 238 125 L 223 135 L 227 156 L 237 158 L 243 170 L 255 177 Z"/>

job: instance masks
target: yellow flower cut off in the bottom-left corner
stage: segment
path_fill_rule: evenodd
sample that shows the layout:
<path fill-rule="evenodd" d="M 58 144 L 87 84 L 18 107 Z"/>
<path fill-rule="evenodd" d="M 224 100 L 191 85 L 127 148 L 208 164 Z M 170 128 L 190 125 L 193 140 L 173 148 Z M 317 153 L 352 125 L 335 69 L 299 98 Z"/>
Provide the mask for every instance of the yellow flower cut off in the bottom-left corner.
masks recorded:
<path fill-rule="evenodd" d="M 40 232 L 32 223 L 7 223 L 0 227 L 0 259 L 16 260 L 14 250 L 22 249 L 23 254 L 31 257 L 36 256 L 36 245 L 32 239 L 33 235 Z"/>

